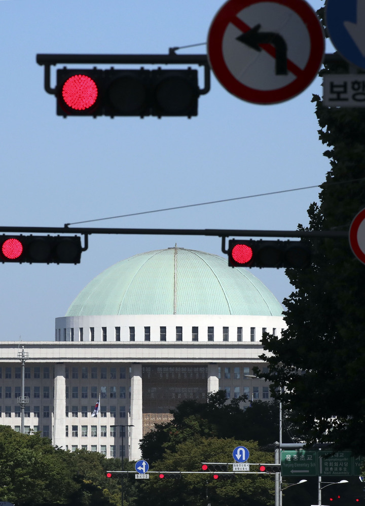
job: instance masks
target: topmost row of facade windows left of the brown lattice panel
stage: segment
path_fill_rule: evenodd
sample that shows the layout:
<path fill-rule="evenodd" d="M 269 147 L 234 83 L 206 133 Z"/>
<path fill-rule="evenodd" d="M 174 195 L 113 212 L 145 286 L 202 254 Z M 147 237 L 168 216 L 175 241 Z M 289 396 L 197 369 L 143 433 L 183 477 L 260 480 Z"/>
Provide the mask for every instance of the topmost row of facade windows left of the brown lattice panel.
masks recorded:
<path fill-rule="evenodd" d="M 129 372 L 130 372 L 129 368 Z M 50 375 L 54 378 L 53 368 L 48 366 L 45 367 L 25 367 L 24 368 L 24 378 L 30 379 L 33 377 L 34 379 L 49 379 Z M 127 378 L 127 368 L 124 366 L 121 367 L 87 367 L 83 366 L 79 367 L 65 367 L 65 377 L 72 379 L 126 379 Z M 5 367 L 4 368 L 4 378 L 3 378 L 3 368 L 0 367 L 0 378 L 2 379 L 20 379 L 21 378 L 21 367 Z"/>

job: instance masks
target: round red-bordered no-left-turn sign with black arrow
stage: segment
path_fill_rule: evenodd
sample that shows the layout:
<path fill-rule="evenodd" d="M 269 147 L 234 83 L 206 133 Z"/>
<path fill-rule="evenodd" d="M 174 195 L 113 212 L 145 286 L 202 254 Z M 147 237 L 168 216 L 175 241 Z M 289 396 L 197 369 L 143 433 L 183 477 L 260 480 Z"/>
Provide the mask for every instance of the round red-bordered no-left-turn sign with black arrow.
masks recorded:
<path fill-rule="evenodd" d="M 207 52 L 215 77 L 230 93 L 278 103 L 318 75 L 324 34 L 305 0 L 229 0 L 210 25 Z M 286 65 L 286 74 L 278 63 Z"/>

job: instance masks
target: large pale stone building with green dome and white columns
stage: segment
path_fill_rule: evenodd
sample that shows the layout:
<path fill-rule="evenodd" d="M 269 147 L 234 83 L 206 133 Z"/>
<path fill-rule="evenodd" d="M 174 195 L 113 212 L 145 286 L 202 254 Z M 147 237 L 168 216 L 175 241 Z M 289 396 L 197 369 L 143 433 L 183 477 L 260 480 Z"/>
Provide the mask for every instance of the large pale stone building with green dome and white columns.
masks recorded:
<path fill-rule="evenodd" d="M 56 342 L 26 344 L 25 430 L 35 427 L 70 450 L 136 460 L 143 434 L 182 400 L 205 401 L 218 389 L 228 398 L 269 399 L 252 367 L 265 367 L 262 333 L 280 333 L 284 321 L 279 302 L 249 270 L 175 246 L 106 269 L 55 327 Z M 15 343 L 0 349 L 3 389 L 19 394 Z M 14 396 L 3 395 L 3 404 L 8 399 L 13 406 L 1 420 L 18 427 L 20 407 Z"/>

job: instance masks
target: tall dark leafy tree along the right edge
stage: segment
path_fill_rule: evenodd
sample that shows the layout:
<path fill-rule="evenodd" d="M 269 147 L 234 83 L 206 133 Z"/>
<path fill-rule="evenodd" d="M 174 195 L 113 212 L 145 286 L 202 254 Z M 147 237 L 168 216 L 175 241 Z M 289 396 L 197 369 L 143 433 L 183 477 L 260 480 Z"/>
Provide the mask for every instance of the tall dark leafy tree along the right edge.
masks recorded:
<path fill-rule="evenodd" d="M 341 73 L 344 63 L 324 71 Z M 313 102 L 330 170 L 319 203 L 308 209 L 309 226 L 299 229 L 347 231 L 365 204 L 365 112 L 330 109 L 317 95 Z M 269 373 L 261 376 L 273 381 L 308 444 L 329 442 L 365 455 L 365 267 L 347 238 L 309 242 L 311 267 L 286 271 L 295 287 L 283 302 L 287 330 L 281 338 L 264 336 Z"/>

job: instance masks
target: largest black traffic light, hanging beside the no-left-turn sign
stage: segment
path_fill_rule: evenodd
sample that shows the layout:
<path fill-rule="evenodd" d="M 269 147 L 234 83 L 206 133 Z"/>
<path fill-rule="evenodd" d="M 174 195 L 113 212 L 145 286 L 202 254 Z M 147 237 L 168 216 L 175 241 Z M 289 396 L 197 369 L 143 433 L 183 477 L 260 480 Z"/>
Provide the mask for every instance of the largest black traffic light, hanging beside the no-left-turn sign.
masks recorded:
<path fill-rule="evenodd" d="M 197 116 L 198 71 L 57 70 L 58 116 Z"/>

